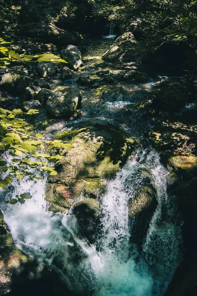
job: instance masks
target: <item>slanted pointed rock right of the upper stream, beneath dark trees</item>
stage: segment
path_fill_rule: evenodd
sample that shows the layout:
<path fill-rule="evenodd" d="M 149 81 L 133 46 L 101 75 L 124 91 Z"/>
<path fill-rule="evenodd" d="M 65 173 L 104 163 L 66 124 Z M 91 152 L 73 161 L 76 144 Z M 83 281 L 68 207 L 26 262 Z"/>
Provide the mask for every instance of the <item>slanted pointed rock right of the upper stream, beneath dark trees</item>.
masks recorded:
<path fill-rule="evenodd" d="M 118 37 L 113 45 L 102 56 L 103 60 L 131 61 L 135 49 L 136 40 L 131 32 L 124 33 Z"/>

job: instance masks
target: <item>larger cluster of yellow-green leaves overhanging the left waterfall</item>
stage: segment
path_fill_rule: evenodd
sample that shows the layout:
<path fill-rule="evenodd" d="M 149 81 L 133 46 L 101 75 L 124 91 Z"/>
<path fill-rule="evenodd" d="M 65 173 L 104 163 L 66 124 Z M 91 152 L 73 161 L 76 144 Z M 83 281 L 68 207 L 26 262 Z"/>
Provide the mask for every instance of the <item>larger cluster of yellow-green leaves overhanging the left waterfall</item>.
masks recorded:
<path fill-rule="evenodd" d="M 38 113 L 38 110 L 31 109 L 23 112 L 21 109 L 13 111 L 0 108 L 0 168 L 4 178 L 0 181 L 0 187 L 6 186 L 13 181 L 13 176 L 17 180 L 28 177 L 31 181 L 40 179 L 33 173 L 32 169 L 40 172 L 47 171 L 49 175 L 55 176 L 57 172 L 54 167 L 48 165 L 48 162 L 56 162 L 62 156 L 57 154 L 51 156 L 49 154 L 40 153 L 44 148 L 58 147 L 62 149 L 70 149 L 72 145 L 64 143 L 61 140 L 44 140 L 43 135 L 36 134 L 31 136 L 27 134 L 31 127 L 22 118 L 23 114 L 32 115 Z M 27 198 L 27 195 L 20 198 Z M 20 201 L 18 197 L 18 201 Z"/>

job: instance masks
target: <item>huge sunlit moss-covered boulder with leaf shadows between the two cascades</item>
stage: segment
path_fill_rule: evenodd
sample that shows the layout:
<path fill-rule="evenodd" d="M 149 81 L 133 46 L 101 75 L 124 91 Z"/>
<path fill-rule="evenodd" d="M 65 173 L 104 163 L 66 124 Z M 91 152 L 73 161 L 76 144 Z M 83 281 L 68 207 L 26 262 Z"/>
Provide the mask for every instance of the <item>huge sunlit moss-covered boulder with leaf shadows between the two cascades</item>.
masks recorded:
<path fill-rule="evenodd" d="M 115 176 L 134 149 L 134 141 L 121 131 L 99 124 L 66 131 L 56 138 L 70 141 L 73 148 L 56 164 L 58 174 L 48 178 L 45 199 L 53 202 L 48 196 L 54 196 L 55 204 L 58 200 L 53 186 L 58 184 L 68 186 L 74 199 L 78 196 L 97 198 L 103 192 L 106 180 Z"/>

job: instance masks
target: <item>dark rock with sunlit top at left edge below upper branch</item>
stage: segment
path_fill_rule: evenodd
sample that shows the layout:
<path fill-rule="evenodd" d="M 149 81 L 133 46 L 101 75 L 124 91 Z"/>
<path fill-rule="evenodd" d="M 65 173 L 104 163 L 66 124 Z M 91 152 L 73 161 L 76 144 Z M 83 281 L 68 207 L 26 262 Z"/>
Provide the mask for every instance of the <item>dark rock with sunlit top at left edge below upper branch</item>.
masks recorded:
<path fill-rule="evenodd" d="M 18 94 L 32 83 L 32 79 L 25 75 L 6 73 L 1 76 L 0 88 L 11 94 Z"/>

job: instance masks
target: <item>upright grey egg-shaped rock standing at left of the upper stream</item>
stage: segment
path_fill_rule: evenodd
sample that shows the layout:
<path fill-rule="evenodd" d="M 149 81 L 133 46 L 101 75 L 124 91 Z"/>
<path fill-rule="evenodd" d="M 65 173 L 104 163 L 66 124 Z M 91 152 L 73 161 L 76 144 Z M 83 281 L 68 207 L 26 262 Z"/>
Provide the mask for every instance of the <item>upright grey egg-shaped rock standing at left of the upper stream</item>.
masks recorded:
<path fill-rule="evenodd" d="M 79 49 L 74 45 L 68 45 L 66 49 L 62 49 L 61 58 L 68 62 L 72 70 L 77 70 L 83 65 L 82 55 Z"/>

